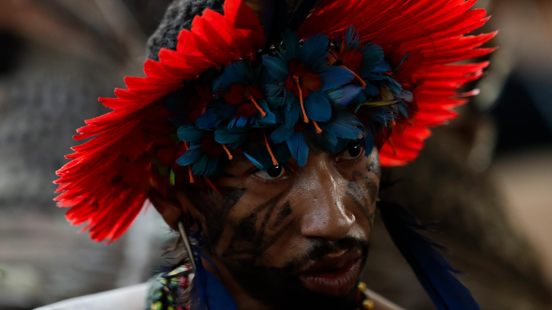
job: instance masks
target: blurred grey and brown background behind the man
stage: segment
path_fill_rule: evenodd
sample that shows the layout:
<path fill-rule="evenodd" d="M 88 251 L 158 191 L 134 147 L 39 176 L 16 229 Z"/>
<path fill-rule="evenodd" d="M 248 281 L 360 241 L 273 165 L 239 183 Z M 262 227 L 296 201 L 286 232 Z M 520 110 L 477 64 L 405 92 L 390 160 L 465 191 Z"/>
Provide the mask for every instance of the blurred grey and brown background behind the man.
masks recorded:
<path fill-rule="evenodd" d="M 110 246 L 77 234 L 52 201 L 55 170 L 96 99 L 142 76 L 168 0 L 0 1 L 0 309 L 145 281 L 171 240 L 145 211 Z M 461 117 L 434 130 L 381 198 L 408 206 L 483 309 L 552 309 L 552 1 L 479 1 L 500 29 L 489 74 Z M 481 30 L 478 30 L 480 32 Z M 376 222 L 378 222 L 376 220 Z M 433 309 L 376 223 L 364 279 L 407 309 Z"/>

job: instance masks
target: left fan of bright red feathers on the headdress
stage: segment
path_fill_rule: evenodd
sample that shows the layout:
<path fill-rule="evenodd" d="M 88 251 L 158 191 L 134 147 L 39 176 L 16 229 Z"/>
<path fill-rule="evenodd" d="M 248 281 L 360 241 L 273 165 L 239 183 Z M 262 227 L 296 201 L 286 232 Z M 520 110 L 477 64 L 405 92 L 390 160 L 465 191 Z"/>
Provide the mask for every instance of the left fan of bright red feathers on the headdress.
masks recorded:
<path fill-rule="evenodd" d="M 144 63 L 147 77 L 127 77 L 128 89 L 115 90 L 118 98 L 99 99 L 114 111 L 77 130 L 77 140 L 93 138 L 73 147 L 75 153 L 67 156 L 73 160 L 57 170 L 61 194 L 55 200 L 71 208 L 66 217 L 73 225 L 87 223 L 83 230 L 93 240 L 113 242 L 134 221 L 148 190 L 166 192 L 167 185 L 155 178 L 166 171 L 156 171 L 152 159 L 174 163 L 183 149 L 167 139 L 173 127 L 157 105 L 160 98 L 184 87 L 185 79 L 250 57 L 264 45 L 261 24 L 245 3 L 226 0 L 224 12 L 207 9 L 196 17 L 192 29 L 178 36 L 176 51 L 163 49 L 159 62 Z"/>

